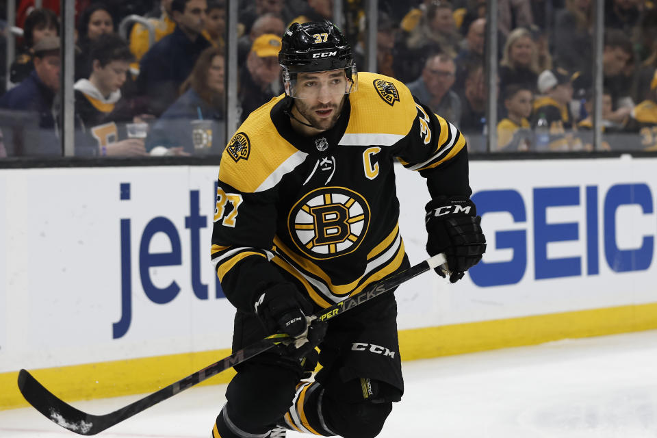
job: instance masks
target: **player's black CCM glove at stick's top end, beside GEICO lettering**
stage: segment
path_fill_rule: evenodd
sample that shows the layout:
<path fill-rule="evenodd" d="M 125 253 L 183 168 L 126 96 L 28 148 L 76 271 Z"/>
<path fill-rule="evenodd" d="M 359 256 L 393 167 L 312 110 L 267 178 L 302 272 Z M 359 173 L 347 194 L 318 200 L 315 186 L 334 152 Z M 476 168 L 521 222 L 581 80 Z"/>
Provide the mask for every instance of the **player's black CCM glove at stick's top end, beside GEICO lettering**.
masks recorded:
<path fill-rule="evenodd" d="M 465 196 L 432 199 L 426 205 L 424 220 L 427 231 L 426 252 L 433 256 L 445 253 L 452 272 L 450 282 L 456 283 L 463 274 L 481 260 L 486 252 L 486 237 L 481 230 L 481 217 L 474 203 Z M 440 268 L 435 271 L 445 276 Z"/>

